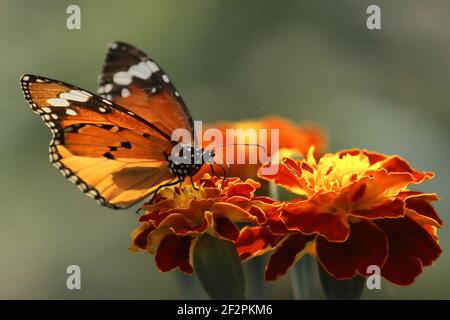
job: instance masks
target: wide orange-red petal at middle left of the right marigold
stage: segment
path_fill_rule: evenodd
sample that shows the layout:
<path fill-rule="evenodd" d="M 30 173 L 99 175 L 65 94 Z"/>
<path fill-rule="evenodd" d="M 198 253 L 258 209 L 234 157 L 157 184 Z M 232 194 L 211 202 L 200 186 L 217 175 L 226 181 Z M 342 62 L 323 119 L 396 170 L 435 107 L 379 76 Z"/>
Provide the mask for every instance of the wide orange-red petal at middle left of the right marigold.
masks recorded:
<path fill-rule="evenodd" d="M 319 212 L 308 200 L 286 206 L 281 213 L 281 219 L 289 230 L 305 234 L 318 233 L 330 241 L 345 241 L 349 233 L 348 225 L 342 216 Z"/>

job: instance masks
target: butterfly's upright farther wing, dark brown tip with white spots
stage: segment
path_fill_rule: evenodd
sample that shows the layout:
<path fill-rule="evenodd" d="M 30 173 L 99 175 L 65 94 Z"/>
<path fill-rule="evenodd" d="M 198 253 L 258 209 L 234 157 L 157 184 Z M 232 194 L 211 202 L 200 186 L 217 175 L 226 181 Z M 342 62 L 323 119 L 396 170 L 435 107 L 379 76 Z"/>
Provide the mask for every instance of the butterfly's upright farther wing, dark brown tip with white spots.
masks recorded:
<path fill-rule="evenodd" d="M 193 121 L 185 103 L 167 74 L 141 50 L 113 42 L 99 84 L 102 97 L 154 123 L 167 135 L 183 128 L 193 138 Z"/>

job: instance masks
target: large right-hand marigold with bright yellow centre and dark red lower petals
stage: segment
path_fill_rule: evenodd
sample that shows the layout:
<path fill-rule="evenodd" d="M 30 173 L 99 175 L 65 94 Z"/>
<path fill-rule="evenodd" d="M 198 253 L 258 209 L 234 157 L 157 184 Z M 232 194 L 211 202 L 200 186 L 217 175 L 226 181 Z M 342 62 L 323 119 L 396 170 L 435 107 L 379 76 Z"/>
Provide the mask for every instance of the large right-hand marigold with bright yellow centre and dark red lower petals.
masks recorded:
<path fill-rule="evenodd" d="M 431 205 L 438 197 L 408 190 L 432 177 L 399 156 L 366 150 L 316 161 L 311 149 L 302 161 L 286 158 L 276 175 L 263 178 L 305 198 L 285 203 L 266 227 L 243 229 L 238 252 L 245 259 L 275 248 L 268 280 L 309 252 L 336 279 L 367 276 L 367 267 L 377 265 L 388 281 L 409 285 L 441 253 L 442 221 Z"/>

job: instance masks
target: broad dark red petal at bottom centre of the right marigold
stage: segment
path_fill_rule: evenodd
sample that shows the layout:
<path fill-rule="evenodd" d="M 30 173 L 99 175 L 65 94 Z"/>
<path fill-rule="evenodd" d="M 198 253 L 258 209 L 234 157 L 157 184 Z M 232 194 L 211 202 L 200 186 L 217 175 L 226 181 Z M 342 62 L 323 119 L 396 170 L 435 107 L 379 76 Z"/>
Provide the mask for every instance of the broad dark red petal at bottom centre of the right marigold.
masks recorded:
<path fill-rule="evenodd" d="M 345 242 L 329 242 L 319 237 L 316 251 L 322 266 L 336 279 L 367 275 L 368 266 L 383 266 L 388 255 L 386 236 L 367 220 L 351 224 L 350 236 Z"/>

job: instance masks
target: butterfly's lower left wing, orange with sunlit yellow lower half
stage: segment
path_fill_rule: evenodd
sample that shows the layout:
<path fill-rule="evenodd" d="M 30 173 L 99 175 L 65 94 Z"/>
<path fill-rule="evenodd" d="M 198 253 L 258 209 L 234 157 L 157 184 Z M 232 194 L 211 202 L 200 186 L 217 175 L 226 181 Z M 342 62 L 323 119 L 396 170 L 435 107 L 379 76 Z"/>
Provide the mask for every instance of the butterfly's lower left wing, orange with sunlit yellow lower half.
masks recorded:
<path fill-rule="evenodd" d="M 170 137 L 134 112 L 78 87 L 24 75 L 25 98 L 53 133 L 50 160 L 88 196 L 128 207 L 173 178 Z"/>

